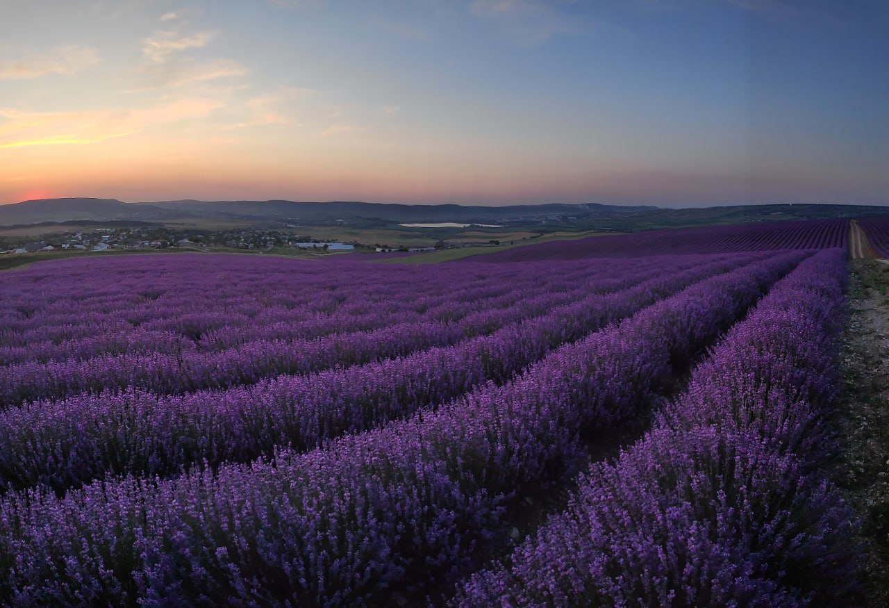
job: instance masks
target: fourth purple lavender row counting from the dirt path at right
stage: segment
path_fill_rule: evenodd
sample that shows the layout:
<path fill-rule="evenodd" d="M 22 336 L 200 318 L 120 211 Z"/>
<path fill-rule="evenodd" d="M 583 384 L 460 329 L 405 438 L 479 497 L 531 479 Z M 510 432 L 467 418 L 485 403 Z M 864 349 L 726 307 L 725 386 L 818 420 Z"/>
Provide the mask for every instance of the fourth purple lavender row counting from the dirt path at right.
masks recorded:
<path fill-rule="evenodd" d="M 687 263 L 687 260 L 684 260 Z M 645 275 L 643 275 L 645 276 Z M 638 282 L 628 274 L 609 286 Z M 132 353 L 84 361 L 16 364 L 0 368 L 0 403 L 59 398 L 108 388 L 143 388 L 157 394 L 252 384 L 280 374 L 310 373 L 453 345 L 504 324 L 543 312 L 539 302 L 507 310 L 479 310 L 456 323 L 400 323 L 373 332 L 333 334 L 316 340 L 251 341 L 202 353 Z"/>

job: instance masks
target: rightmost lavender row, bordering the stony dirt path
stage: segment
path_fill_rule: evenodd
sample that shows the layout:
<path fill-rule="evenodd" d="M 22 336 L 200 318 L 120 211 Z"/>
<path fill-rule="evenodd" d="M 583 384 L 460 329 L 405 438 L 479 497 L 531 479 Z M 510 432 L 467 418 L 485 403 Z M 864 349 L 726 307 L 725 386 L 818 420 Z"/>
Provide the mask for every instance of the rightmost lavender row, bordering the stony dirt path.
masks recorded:
<path fill-rule="evenodd" d="M 835 448 L 844 258 L 776 285 L 649 435 L 454 604 L 857 604 L 853 517 L 819 466 Z"/>

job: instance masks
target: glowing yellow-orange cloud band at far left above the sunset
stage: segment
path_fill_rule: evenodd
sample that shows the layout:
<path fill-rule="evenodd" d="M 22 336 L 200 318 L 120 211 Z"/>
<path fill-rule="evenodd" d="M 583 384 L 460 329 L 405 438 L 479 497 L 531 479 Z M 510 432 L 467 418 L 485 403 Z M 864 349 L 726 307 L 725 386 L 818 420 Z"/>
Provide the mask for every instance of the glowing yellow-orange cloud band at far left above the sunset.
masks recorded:
<path fill-rule="evenodd" d="M 92 144 L 158 125 L 200 120 L 218 108 L 220 103 L 203 99 L 182 99 L 134 110 L 28 112 L 0 108 L 0 148 Z"/>

